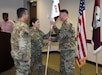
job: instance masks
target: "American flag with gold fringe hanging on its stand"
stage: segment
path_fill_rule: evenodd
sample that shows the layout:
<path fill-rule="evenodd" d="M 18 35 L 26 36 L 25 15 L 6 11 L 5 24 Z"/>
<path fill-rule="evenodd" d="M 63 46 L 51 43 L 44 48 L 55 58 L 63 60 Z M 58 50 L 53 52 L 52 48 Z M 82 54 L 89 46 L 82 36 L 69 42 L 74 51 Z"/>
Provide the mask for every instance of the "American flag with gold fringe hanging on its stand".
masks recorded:
<path fill-rule="evenodd" d="M 85 0 L 80 0 L 78 27 L 77 27 L 77 64 L 79 67 L 84 65 L 87 57 L 86 44 L 86 20 L 85 20 Z"/>

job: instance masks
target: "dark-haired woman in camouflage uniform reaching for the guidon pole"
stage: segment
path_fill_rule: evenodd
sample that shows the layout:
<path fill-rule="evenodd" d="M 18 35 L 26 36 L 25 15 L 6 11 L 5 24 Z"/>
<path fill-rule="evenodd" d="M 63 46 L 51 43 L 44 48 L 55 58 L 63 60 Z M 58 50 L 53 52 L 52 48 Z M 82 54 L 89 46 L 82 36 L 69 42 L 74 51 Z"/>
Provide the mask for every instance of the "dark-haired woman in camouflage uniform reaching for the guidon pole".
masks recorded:
<path fill-rule="evenodd" d="M 33 18 L 30 22 L 30 34 L 31 34 L 31 49 L 32 49 L 32 67 L 36 65 L 36 75 L 42 75 L 42 47 L 44 46 L 43 39 L 49 36 L 49 33 L 45 35 L 39 30 L 39 20 Z"/>

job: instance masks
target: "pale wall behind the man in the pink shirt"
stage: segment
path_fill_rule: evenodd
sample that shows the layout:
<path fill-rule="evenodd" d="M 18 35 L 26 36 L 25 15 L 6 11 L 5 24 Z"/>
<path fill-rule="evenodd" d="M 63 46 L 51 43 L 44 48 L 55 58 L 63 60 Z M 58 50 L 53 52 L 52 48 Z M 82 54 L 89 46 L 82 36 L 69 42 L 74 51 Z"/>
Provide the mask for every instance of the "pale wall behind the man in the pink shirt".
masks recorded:
<path fill-rule="evenodd" d="M 9 13 L 9 19 L 16 20 L 16 10 L 23 6 L 23 0 L 0 0 L 0 20 L 3 12 Z"/>

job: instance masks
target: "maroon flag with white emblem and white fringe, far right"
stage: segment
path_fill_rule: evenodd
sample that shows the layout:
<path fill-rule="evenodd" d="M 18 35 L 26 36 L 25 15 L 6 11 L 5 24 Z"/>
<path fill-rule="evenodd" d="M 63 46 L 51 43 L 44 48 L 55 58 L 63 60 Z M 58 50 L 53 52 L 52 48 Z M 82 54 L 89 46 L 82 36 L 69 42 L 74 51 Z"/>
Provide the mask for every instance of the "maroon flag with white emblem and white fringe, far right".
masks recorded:
<path fill-rule="evenodd" d="M 100 35 L 100 0 L 95 0 L 93 20 L 92 20 L 92 44 L 94 45 L 94 54 L 101 50 L 101 35 Z M 97 36 L 97 37 L 96 37 Z"/>

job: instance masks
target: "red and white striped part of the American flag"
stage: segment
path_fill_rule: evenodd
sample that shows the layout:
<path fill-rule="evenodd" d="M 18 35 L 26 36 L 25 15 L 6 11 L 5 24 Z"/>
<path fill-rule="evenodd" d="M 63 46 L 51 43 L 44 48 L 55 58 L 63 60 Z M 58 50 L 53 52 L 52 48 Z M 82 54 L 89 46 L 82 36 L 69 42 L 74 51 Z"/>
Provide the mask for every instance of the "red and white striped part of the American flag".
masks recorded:
<path fill-rule="evenodd" d="M 77 38 L 77 60 L 79 65 L 83 65 L 80 60 L 84 60 L 87 57 L 85 10 L 78 17 Z"/>

